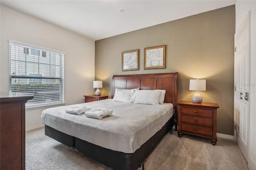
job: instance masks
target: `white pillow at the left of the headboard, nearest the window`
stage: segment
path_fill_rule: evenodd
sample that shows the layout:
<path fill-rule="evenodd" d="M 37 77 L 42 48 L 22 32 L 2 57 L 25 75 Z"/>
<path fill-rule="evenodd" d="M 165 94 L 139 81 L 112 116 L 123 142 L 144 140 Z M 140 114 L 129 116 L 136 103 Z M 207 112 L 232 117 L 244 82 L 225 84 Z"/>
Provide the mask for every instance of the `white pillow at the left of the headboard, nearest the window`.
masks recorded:
<path fill-rule="evenodd" d="M 116 89 L 113 101 L 130 103 L 134 92 L 134 89 Z"/>

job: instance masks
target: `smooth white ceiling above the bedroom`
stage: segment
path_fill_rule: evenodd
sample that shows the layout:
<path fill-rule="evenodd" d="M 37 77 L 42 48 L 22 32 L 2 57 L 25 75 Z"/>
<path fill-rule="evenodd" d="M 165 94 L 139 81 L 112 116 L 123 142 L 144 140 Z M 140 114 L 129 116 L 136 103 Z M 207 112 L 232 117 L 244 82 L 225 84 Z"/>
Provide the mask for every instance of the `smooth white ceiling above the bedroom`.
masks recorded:
<path fill-rule="evenodd" d="M 0 3 L 91 40 L 101 40 L 234 5 L 236 0 L 1 0 Z"/>

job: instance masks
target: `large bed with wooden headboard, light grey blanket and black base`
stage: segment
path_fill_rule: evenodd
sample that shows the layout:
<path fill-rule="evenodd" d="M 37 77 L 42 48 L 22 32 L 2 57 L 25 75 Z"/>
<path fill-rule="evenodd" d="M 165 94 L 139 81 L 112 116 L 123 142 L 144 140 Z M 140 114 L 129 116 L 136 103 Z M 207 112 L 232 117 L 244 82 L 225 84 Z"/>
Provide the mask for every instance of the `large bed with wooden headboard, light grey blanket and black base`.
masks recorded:
<path fill-rule="evenodd" d="M 65 113 L 70 106 L 46 109 L 42 113 L 45 134 L 114 170 L 144 169 L 144 162 L 166 133 L 174 125 L 177 130 L 177 79 L 178 73 L 114 75 L 111 99 L 80 104 L 112 109 L 112 116 L 98 120 Z M 160 105 L 124 103 L 113 101 L 117 89 L 161 89 L 165 96 Z M 147 118 L 141 111 L 148 113 Z"/>

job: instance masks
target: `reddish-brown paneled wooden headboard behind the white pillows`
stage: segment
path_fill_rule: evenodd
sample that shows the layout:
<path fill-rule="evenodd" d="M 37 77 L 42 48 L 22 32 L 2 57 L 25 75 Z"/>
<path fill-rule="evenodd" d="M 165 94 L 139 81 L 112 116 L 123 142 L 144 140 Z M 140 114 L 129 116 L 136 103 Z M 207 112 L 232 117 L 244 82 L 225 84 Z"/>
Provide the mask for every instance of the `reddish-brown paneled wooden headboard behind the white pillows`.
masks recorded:
<path fill-rule="evenodd" d="M 178 72 L 158 74 L 113 75 L 113 99 L 116 89 L 166 90 L 164 103 L 172 103 L 176 109 L 178 91 Z"/>

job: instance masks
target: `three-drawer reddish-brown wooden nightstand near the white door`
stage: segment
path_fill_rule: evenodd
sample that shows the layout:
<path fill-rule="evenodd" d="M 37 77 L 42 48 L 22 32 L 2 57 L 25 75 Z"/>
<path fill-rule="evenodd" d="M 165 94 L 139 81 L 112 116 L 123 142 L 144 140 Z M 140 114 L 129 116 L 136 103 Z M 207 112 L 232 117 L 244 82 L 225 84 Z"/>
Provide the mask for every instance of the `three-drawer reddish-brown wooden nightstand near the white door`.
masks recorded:
<path fill-rule="evenodd" d="M 193 103 L 179 101 L 178 105 L 178 136 L 182 133 L 209 138 L 216 144 L 217 103 Z"/>

